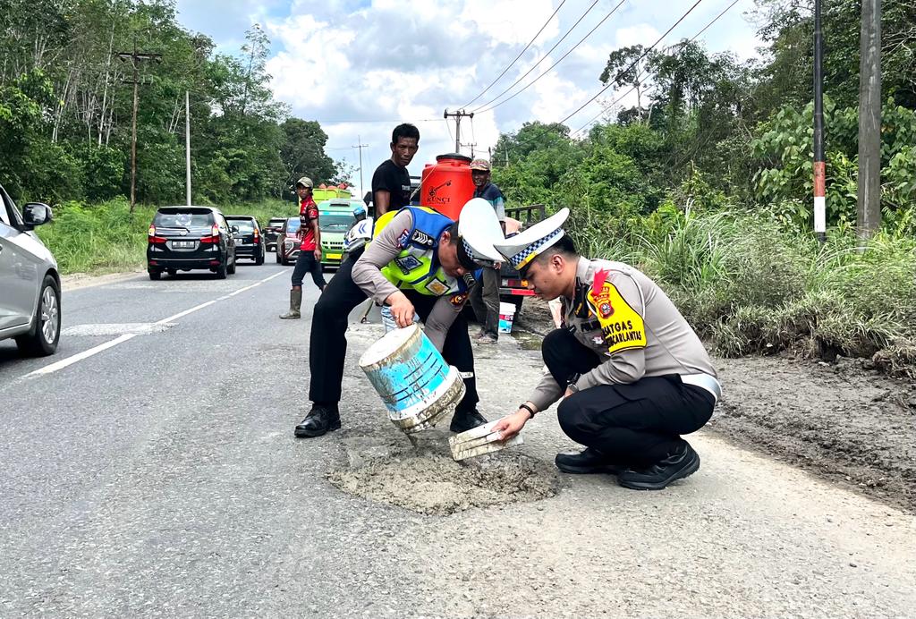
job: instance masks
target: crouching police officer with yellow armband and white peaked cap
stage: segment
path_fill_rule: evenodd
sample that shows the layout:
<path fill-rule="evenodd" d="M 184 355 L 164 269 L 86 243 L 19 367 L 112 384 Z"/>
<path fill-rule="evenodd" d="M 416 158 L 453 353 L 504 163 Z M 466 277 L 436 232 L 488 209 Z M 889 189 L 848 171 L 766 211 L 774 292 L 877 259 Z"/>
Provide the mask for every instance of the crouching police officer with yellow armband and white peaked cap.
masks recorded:
<path fill-rule="evenodd" d="M 496 244 L 541 299 L 562 299 L 562 328 L 544 338 L 549 370 L 527 402 L 494 428 L 503 440 L 563 397 L 563 432 L 585 446 L 560 453 L 563 472 L 603 472 L 660 490 L 700 468 L 681 438 L 705 425 L 721 395 L 703 343 L 671 299 L 632 266 L 575 252 L 569 210 Z"/>

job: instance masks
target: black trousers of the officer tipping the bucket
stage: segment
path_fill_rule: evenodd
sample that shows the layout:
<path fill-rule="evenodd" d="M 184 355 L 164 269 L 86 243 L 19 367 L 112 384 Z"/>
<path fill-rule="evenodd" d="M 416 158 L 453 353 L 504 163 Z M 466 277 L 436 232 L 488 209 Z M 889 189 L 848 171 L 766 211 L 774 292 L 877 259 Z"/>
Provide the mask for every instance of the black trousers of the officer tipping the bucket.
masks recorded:
<path fill-rule="evenodd" d="M 309 399 L 316 404 L 335 404 L 341 399 L 341 382 L 344 380 L 346 359 L 347 317 L 366 299 L 365 292 L 353 281 L 353 266 L 360 254 L 362 251 L 344 260 L 331 282 L 324 288 L 312 313 L 309 341 Z M 432 306 L 439 299 L 431 295 L 421 295 L 413 290 L 402 292 L 407 295 L 423 320 L 430 315 Z M 477 381 L 474 378 L 474 349 L 467 333 L 467 320 L 460 314 L 445 336 L 442 357 L 446 363 L 458 368 L 459 372 L 470 374 L 469 378 L 464 379 L 466 391 L 462 401 L 458 403 L 457 412 L 473 410 L 480 401 L 477 396 Z"/>

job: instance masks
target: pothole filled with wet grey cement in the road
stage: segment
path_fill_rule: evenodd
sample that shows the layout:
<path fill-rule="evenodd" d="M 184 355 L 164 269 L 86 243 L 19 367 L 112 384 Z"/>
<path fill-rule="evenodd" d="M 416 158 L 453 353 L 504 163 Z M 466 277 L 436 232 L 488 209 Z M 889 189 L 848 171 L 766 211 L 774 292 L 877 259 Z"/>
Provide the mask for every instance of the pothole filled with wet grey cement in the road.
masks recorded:
<path fill-rule="evenodd" d="M 518 450 L 455 462 L 447 432 L 432 429 L 416 436 L 416 446 L 405 436 L 344 439 L 348 466 L 328 479 L 346 493 L 436 516 L 537 501 L 559 490 L 552 466 Z"/>

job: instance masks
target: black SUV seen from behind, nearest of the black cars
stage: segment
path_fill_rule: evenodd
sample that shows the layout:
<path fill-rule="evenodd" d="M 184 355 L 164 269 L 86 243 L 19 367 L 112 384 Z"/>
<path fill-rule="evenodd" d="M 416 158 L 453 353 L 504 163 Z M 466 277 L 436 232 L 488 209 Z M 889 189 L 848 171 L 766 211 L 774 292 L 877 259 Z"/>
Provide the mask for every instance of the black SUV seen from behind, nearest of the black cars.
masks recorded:
<path fill-rule="evenodd" d="M 223 213 L 209 206 L 166 206 L 149 224 L 147 273 L 158 279 L 192 268 L 225 279 L 235 272 L 235 240 Z"/>

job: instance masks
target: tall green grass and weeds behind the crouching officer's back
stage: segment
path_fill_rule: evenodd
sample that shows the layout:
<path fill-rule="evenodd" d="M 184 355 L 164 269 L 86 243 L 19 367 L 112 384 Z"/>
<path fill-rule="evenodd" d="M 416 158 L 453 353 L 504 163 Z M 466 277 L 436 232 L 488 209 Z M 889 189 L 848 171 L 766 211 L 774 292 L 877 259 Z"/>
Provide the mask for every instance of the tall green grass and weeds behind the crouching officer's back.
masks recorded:
<path fill-rule="evenodd" d="M 625 246 L 602 246 L 606 230 L 575 236 L 585 255 L 629 256 L 717 353 L 873 356 L 916 377 L 916 241 L 905 233 L 862 242 L 838 229 L 820 244 L 766 215 L 715 212 L 623 235 Z"/>

